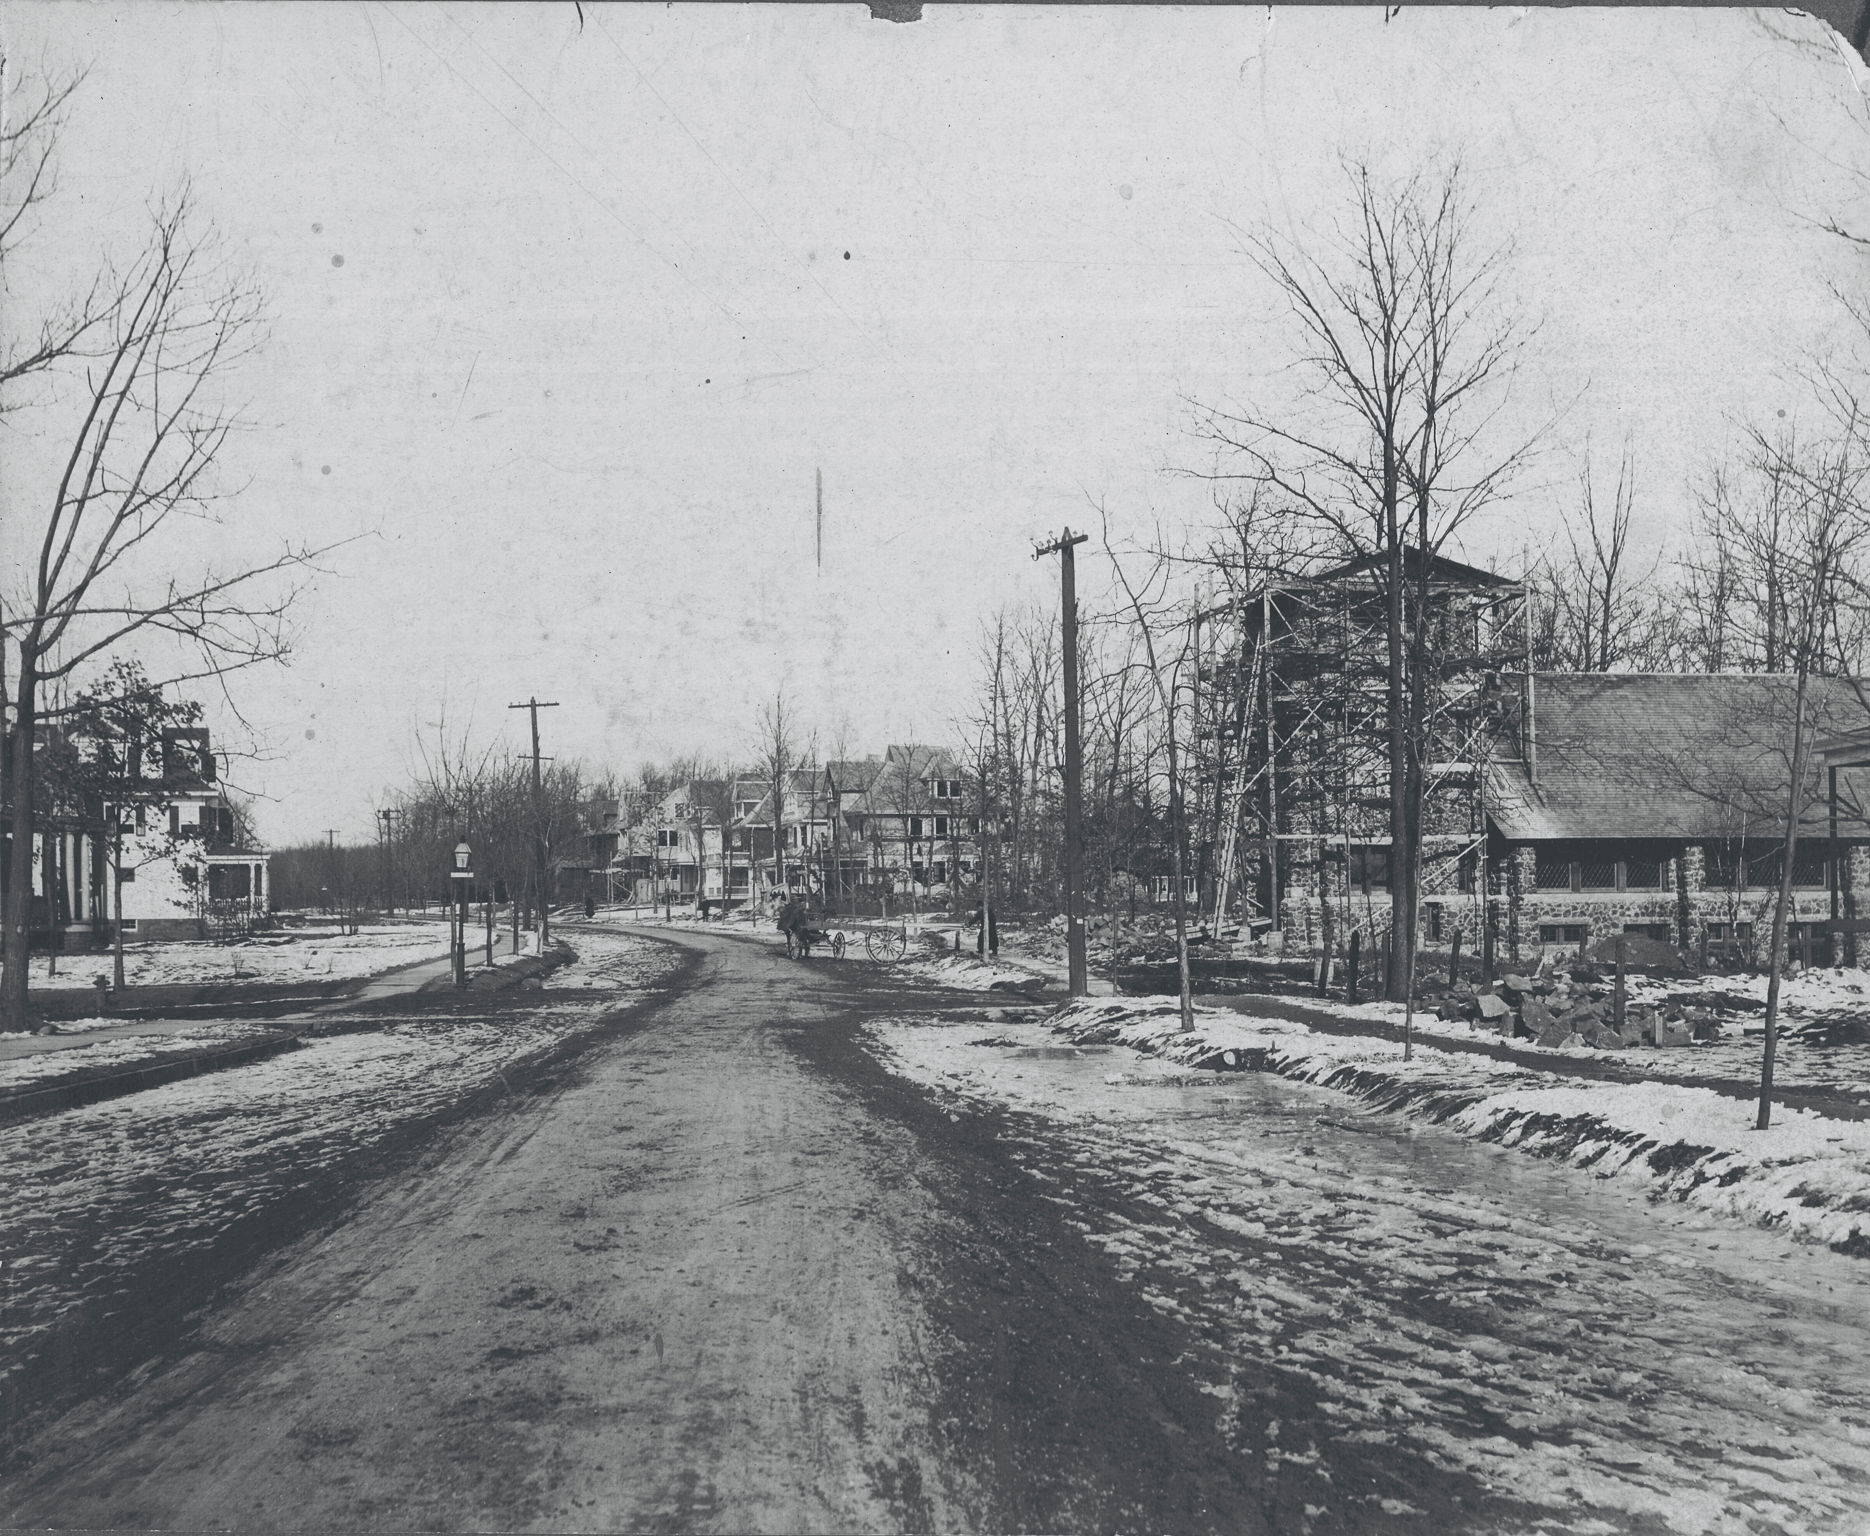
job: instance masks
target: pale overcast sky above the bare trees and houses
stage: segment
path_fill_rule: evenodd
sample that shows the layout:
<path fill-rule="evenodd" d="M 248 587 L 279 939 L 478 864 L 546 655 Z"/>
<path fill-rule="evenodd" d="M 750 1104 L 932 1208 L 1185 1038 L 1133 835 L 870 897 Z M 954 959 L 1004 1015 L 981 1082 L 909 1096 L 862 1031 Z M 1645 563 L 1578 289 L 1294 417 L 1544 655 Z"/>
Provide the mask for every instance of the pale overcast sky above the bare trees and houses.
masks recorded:
<path fill-rule="evenodd" d="M 1339 155 L 1460 153 L 1517 241 L 1515 410 L 1561 415 L 1481 559 L 1625 436 L 1642 535 L 1676 537 L 1732 421 L 1797 412 L 1784 370 L 1836 333 L 1855 256 L 1814 221 L 1870 226 L 1859 84 L 1782 11 L 4 19 L 15 65 L 90 65 L 13 312 L 193 176 L 273 314 L 221 537 L 359 535 L 292 666 L 236 685 L 273 842 L 370 836 L 443 711 L 518 743 L 527 694 L 593 765 L 733 756 L 780 687 L 827 745 L 950 735 L 982 616 L 1057 580 L 1036 537 L 1090 500 L 1206 514 L 1186 402 L 1287 387 L 1242 230 L 1320 226 Z M 49 443 L 6 430 L 17 533 Z"/>

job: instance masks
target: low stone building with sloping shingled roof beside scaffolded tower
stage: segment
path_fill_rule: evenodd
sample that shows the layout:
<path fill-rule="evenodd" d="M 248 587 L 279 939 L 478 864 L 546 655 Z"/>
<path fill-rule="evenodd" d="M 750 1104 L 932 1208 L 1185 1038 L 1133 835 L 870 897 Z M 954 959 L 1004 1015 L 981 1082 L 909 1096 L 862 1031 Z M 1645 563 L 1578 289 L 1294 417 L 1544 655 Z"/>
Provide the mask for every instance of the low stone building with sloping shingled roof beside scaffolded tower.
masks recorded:
<path fill-rule="evenodd" d="M 1524 675 L 1524 711 L 1477 763 L 1477 861 L 1425 868 L 1423 941 L 1528 956 L 1633 934 L 1758 958 L 1771 934 L 1791 760 L 1788 675 Z M 1848 743 L 1870 711 L 1846 679 L 1810 679 L 1808 743 Z M 1833 915 L 1870 911 L 1870 752 L 1806 748 L 1790 952 L 1831 958 Z M 1833 808 L 1831 784 L 1836 780 Z M 1356 849 L 1352 849 L 1356 853 Z M 1352 857 L 1326 889 L 1335 932 L 1388 926 L 1388 872 Z M 1287 904 L 1292 941 L 1316 945 L 1316 883 Z"/>

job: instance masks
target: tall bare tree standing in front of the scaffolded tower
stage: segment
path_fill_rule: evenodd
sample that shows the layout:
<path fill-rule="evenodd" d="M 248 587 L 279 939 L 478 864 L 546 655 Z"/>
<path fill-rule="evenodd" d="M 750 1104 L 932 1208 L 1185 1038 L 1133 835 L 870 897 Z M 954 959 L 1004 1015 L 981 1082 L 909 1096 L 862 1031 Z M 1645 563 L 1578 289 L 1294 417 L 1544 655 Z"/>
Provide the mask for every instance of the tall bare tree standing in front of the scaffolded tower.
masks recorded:
<path fill-rule="evenodd" d="M 1389 995 L 1412 986 L 1421 891 L 1431 565 L 1524 468 L 1537 432 L 1494 443 L 1530 327 L 1500 292 L 1507 247 L 1477 245 L 1460 167 L 1399 185 L 1346 167 L 1350 211 L 1328 241 L 1249 236 L 1247 254 L 1298 324 L 1296 413 L 1201 410 L 1219 479 L 1273 492 L 1382 586 L 1386 619 Z M 1414 554 L 1410 554 L 1414 550 Z"/>

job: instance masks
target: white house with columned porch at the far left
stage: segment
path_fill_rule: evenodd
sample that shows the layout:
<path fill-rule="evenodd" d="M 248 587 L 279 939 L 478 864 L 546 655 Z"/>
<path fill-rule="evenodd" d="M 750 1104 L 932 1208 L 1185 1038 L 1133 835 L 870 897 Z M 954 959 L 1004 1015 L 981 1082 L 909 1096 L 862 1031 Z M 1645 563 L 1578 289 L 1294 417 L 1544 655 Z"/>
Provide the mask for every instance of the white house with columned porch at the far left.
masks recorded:
<path fill-rule="evenodd" d="M 56 730 L 43 750 L 65 743 Z M 73 741 L 73 750 L 112 750 Z M 267 855 L 245 846 L 234 806 L 215 773 L 209 733 L 165 730 L 146 773 L 112 799 L 56 799 L 36 818 L 24 861 L 34 949 L 95 949 L 108 943 L 122 911 L 131 939 L 202 939 L 245 932 L 269 902 Z M 13 833 L 0 836 L 0 879 L 19 866 Z M 118 902 L 122 900 L 122 907 Z"/>

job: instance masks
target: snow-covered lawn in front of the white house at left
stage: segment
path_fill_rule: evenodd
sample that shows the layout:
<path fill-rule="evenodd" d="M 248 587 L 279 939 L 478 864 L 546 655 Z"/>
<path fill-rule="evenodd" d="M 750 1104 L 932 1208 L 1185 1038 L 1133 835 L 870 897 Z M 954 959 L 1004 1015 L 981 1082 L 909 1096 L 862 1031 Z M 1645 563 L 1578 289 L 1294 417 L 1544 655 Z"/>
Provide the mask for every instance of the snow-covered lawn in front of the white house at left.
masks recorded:
<path fill-rule="evenodd" d="M 441 922 L 385 922 L 344 934 L 338 928 L 299 928 L 243 943 L 204 939 L 166 945 L 125 945 L 125 986 L 204 986 L 209 982 L 322 982 L 372 977 L 449 952 Z M 32 964 L 34 992 L 94 986 L 110 978 L 110 952 L 60 954 L 58 973 L 43 958 Z"/>

